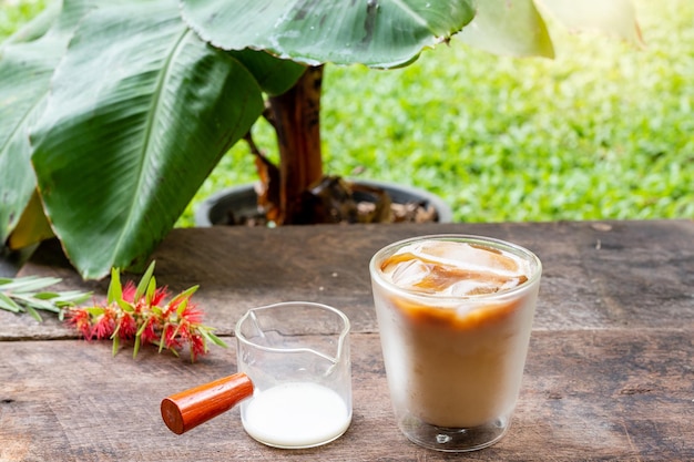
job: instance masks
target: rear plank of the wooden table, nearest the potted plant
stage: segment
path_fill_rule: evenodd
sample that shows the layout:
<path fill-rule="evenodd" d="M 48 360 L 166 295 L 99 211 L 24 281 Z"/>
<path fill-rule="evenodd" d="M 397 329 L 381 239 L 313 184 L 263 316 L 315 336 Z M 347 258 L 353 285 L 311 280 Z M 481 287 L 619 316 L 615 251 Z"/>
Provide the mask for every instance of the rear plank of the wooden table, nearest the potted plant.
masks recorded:
<path fill-rule="evenodd" d="M 248 308 L 288 300 L 333 305 L 354 331 L 375 332 L 370 257 L 391 242 L 443 233 L 507 239 L 540 257 L 535 329 L 694 325 L 692 220 L 174 229 L 153 258 L 159 284 L 201 285 L 195 300 L 222 333 Z M 58 276 L 63 288 L 105 296 L 108 281 L 82 281 L 55 243 L 40 250 L 20 275 Z M 67 335 L 0 311 L 0 340 Z"/>

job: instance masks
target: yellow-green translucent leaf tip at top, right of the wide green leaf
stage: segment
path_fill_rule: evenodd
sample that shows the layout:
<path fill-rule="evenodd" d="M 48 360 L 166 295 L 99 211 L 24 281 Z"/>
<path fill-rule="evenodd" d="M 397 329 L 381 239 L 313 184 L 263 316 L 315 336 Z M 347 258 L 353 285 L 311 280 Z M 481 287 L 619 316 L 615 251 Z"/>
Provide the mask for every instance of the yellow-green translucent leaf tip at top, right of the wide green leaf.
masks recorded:
<path fill-rule="evenodd" d="M 478 2 L 474 20 L 456 40 L 497 54 L 554 57 L 552 40 L 533 0 Z"/>

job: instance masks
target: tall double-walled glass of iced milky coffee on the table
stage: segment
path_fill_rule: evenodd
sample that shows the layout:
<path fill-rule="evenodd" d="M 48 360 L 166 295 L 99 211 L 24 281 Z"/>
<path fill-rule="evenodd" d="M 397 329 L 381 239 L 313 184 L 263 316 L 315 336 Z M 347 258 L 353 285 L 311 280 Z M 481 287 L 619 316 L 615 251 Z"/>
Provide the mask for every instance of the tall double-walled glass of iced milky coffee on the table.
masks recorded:
<path fill-rule="evenodd" d="M 399 429 L 439 451 L 499 441 L 518 399 L 542 265 L 465 235 L 391 244 L 369 265 Z"/>

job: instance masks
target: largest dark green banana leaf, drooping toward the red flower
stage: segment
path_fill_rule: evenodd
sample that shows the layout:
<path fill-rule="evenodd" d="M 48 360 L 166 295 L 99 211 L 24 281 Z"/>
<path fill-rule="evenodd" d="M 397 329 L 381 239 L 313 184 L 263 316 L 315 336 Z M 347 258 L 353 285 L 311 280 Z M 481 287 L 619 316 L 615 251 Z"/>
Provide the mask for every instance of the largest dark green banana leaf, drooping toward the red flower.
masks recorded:
<path fill-rule="evenodd" d="M 188 30 L 174 0 L 88 14 L 52 86 L 33 163 L 84 278 L 142 267 L 263 110 L 253 75 Z"/>

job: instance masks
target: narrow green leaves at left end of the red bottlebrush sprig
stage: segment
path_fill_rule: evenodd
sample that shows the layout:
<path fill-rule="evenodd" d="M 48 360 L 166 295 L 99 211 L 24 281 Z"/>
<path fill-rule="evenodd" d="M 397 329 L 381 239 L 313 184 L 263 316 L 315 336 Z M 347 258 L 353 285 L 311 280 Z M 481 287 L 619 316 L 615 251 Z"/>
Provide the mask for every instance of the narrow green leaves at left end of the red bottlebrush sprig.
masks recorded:
<path fill-rule="evenodd" d="M 38 276 L 0 278 L 0 309 L 29 314 L 39 322 L 43 320 L 39 311 L 51 311 L 58 314 L 62 320 L 65 308 L 88 300 L 92 294 L 79 290 L 45 290 L 60 281 L 60 278 Z"/>

